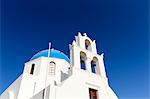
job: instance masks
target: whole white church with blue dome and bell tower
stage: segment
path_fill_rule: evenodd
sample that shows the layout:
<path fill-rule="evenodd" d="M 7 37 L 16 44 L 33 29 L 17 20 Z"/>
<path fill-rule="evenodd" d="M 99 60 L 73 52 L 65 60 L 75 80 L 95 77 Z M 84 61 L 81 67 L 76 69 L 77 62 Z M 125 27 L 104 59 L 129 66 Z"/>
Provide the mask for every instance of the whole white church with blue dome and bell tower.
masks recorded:
<path fill-rule="evenodd" d="M 78 33 L 69 48 L 70 59 L 50 47 L 35 54 L 0 99 L 118 99 L 95 40 Z"/>

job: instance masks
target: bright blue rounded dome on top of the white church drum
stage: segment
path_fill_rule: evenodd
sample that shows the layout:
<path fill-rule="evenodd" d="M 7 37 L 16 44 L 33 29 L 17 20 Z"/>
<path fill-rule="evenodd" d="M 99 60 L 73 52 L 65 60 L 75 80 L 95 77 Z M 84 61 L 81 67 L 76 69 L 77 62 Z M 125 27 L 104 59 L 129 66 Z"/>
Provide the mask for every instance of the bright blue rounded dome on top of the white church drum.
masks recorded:
<path fill-rule="evenodd" d="M 34 59 L 42 57 L 42 56 L 43 57 L 48 57 L 48 49 L 38 52 L 30 60 L 34 60 Z M 58 50 L 50 49 L 50 56 L 49 57 L 65 59 L 68 63 L 70 63 L 70 60 L 67 57 L 67 55 L 65 55 L 63 52 L 58 51 Z"/>

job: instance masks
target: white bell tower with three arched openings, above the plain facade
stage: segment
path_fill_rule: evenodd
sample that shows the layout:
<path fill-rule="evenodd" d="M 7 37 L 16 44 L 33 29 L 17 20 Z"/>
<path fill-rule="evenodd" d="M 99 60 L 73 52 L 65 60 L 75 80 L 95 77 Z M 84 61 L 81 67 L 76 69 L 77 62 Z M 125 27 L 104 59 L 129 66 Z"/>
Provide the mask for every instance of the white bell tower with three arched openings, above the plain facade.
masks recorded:
<path fill-rule="evenodd" d="M 103 54 L 97 53 L 95 40 L 91 40 L 86 33 L 81 35 L 78 32 L 72 45 L 70 45 L 70 62 L 71 68 L 106 78 Z"/>

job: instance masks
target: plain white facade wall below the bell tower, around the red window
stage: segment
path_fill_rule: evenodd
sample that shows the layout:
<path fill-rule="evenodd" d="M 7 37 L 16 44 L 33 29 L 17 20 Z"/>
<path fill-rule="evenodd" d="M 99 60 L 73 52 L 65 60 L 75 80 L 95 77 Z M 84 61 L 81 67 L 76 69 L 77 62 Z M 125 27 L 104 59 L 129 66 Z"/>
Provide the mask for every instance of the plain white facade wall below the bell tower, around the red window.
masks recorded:
<path fill-rule="evenodd" d="M 98 90 L 99 99 L 118 99 L 106 79 L 85 70 L 73 69 L 73 75 L 56 88 L 56 99 L 89 99 L 89 88 Z"/>

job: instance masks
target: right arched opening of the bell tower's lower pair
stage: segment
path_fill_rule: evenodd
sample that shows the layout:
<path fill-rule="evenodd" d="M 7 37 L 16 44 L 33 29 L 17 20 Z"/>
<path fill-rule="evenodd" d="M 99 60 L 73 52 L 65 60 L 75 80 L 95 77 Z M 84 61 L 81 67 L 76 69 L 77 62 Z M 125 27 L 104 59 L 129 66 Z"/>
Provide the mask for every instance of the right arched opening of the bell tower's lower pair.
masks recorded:
<path fill-rule="evenodd" d="M 99 74 L 99 63 L 97 57 L 93 57 L 91 61 L 91 71 L 92 73 Z"/>

